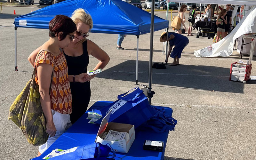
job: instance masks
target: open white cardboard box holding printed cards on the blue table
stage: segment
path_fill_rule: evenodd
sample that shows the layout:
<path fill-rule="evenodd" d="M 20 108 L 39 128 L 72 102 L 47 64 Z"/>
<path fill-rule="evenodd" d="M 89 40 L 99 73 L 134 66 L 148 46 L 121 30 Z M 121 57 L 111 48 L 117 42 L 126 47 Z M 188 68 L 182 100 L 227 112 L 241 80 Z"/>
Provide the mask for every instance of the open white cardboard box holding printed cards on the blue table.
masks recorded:
<path fill-rule="evenodd" d="M 135 140 L 134 125 L 113 122 L 108 123 L 110 115 L 111 111 L 102 119 L 95 142 L 100 142 L 104 145 L 109 143 L 114 151 L 128 153 L 133 141 Z M 127 132 L 125 139 L 118 141 L 102 140 L 101 137 L 104 132 L 108 132 L 110 129 L 117 132 Z"/>

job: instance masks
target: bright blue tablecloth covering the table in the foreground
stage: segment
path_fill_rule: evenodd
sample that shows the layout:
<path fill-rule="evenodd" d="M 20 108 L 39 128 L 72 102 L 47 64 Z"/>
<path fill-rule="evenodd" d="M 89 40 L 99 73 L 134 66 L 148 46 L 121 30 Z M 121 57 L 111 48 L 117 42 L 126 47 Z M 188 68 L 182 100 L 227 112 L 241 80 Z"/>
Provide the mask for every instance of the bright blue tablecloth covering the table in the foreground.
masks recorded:
<path fill-rule="evenodd" d="M 90 124 L 87 118 L 87 112 L 92 109 L 97 109 L 102 106 L 108 106 L 112 101 L 98 101 L 95 102 L 91 108 L 89 108 L 85 114 L 80 117 L 75 124 L 73 124 L 65 133 L 63 133 L 41 156 L 33 158 L 32 160 L 42 160 L 44 156 L 52 152 L 52 150 L 69 149 L 77 146 L 82 146 L 90 143 L 94 143 L 97 132 L 100 125 Z M 156 108 L 165 108 L 165 112 L 172 115 L 172 109 L 167 107 L 154 106 Z M 158 160 L 164 159 L 164 150 L 168 138 L 168 131 L 163 133 L 156 133 L 152 129 L 140 130 L 138 127 L 135 130 L 135 140 L 128 153 L 116 153 L 117 157 L 121 157 L 123 160 Z M 143 149 L 143 143 L 145 140 L 164 141 L 163 152 L 150 151 Z M 118 158 L 116 158 L 117 160 Z"/>

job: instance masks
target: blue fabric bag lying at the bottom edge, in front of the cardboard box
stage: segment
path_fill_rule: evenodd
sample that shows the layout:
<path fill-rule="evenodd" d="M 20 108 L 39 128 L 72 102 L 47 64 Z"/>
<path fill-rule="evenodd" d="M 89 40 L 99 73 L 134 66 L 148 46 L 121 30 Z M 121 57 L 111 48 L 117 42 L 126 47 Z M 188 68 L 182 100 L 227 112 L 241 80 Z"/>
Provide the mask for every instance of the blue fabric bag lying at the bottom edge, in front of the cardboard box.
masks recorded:
<path fill-rule="evenodd" d="M 112 155 L 109 152 L 112 151 Z M 79 146 L 74 152 L 49 158 L 50 160 L 111 160 L 116 157 L 115 151 L 109 144 L 91 143 Z"/>

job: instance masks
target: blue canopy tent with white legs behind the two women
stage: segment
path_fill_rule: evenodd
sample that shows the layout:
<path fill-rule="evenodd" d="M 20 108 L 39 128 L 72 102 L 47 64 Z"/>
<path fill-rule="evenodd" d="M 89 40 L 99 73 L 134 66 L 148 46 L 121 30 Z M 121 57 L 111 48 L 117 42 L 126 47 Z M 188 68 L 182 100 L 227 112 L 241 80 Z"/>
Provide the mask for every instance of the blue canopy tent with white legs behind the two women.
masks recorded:
<path fill-rule="evenodd" d="M 16 17 L 15 70 L 17 69 L 17 28 L 49 29 L 48 23 L 55 15 L 71 17 L 74 10 L 87 10 L 93 20 L 92 33 L 127 34 L 137 36 L 136 84 L 138 84 L 139 35 L 150 32 L 151 14 L 121 0 L 67 0 L 37 11 Z M 154 16 L 154 31 L 168 28 L 169 21 Z"/>

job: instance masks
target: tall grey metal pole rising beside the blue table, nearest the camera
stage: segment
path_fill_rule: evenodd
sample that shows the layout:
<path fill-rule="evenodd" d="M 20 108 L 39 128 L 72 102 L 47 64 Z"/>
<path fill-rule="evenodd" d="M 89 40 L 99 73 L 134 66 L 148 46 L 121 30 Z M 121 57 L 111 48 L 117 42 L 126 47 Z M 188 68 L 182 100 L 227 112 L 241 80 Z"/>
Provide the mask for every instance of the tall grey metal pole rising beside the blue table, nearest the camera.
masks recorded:
<path fill-rule="evenodd" d="M 151 25 L 150 25 L 150 50 L 149 50 L 149 71 L 148 71 L 148 102 L 151 105 L 151 98 L 154 91 L 151 91 L 152 86 L 152 61 L 153 61 L 153 40 L 154 40 L 154 16 L 155 16 L 155 1 L 152 1 L 151 8 Z"/>

